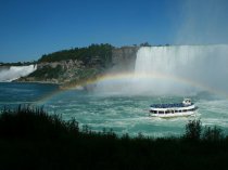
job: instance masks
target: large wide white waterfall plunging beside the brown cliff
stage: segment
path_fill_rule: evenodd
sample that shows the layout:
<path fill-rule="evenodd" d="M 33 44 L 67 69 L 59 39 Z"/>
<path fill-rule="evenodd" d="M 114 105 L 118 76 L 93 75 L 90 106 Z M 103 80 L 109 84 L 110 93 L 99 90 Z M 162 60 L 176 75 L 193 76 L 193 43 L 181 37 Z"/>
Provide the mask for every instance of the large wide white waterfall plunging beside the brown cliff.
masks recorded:
<path fill-rule="evenodd" d="M 136 77 L 139 91 L 188 93 L 201 84 L 228 92 L 228 44 L 143 47 L 137 53 L 135 74 L 148 76 L 143 81 Z M 163 79 L 150 79 L 156 75 Z"/>

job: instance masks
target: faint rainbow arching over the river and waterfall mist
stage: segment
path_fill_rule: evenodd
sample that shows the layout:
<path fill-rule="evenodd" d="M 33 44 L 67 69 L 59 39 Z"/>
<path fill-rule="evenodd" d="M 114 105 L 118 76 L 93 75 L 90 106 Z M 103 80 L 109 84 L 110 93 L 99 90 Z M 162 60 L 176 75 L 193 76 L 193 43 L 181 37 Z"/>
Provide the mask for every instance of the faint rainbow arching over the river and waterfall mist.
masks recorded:
<path fill-rule="evenodd" d="M 181 77 L 177 77 L 174 75 L 165 75 L 165 74 L 161 74 L 161 73 L 151 73 L 151 74 L 135 74 L 135 73 L 121 73 L 121 74 L 104 74 L 104 75 L 100 75 L 97 76 L 94 78 L 88 79 L 86 81 L 80 81 L 80 82 L 72 82 L 69 86 L 64 86 L 61 87 L 59 91 L 54 91 L 51 94 L 43 96 L 42 99 L 39 100 L 39 103 L 43 103 L 45 101 L 48 101 L 49 99 L 51 99 L 53 95 L 67 91 L 67 90 L 76 90 L 76 89 L 81 89 L 83 87 L 86 86 L 92 86 L 92 84 L 97 84 L 97 83 L 102 83 L 102 82 L 107 82 L 107 83 L 118 83 L 125 80 L 137 80 L 137 81 L 141 81 L 141 80 L 167 80 L 167 81 L 175 81 L 177 83 L 182 83 L 182 84 L 187 84 L 190 87 L 195 87 L 198 89 L 204 90 L 204 91 L 208 91 L 211 93 L 224 96 L 226 99 L 228 99 L 228 94 L 226 91 L 223 90 L 218 90 L 205 84 L 202 84 L 200 82 L 190 80 L 190 79 L 186 79 L 186 78 L 181 78 Z"/>

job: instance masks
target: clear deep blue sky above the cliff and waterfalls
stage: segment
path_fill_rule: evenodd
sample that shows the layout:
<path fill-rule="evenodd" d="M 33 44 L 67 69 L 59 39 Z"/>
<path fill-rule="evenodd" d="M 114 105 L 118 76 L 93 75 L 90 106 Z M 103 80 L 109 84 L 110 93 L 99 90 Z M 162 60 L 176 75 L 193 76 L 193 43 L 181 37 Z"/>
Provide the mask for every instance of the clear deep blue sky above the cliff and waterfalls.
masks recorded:
<path fill-rule="evenodd" d="M 0 0 L 0 62 L 111 43 L 228 43 L 227 0 Z"/>

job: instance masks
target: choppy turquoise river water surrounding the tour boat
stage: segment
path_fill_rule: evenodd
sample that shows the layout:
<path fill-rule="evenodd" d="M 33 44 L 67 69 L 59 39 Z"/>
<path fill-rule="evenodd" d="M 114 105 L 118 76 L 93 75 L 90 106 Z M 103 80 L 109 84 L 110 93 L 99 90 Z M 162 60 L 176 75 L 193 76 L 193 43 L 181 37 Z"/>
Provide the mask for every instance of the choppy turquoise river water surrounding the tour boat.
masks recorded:
<path fill-rule="evenodd" d="M 16 107 L 18 104 L 43 106 L 50 114 L 60 114 L 64 120 L 74 117 L 80 126 L 87 125 L 96 131 L 105 128 L 118 134 L 179 135 L 188 120 L 199 118 L 203 125 L 218 126 L 228 133 L 227 99 L 207 92 L 190 97 L 199 106 L 195 117 L 162 119 L 149 116 L 150 104 L 181 102 L 182 96 L 59 91 L 54 84 L 0 83 L 0 107 Z"/>

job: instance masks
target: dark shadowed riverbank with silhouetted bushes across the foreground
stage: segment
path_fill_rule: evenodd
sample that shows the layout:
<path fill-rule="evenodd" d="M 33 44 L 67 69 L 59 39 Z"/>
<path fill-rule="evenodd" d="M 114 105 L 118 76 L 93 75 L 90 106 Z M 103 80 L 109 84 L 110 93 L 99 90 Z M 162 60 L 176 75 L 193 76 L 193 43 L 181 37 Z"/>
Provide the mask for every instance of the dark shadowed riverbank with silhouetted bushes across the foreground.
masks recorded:
<path fill-rule="evenodd" d="M 2 169 L 224 169 L 228 138 L 189 121 L 180 138 L 117 136 L 63 121 L 40 108 L 2 110 Z"/>

